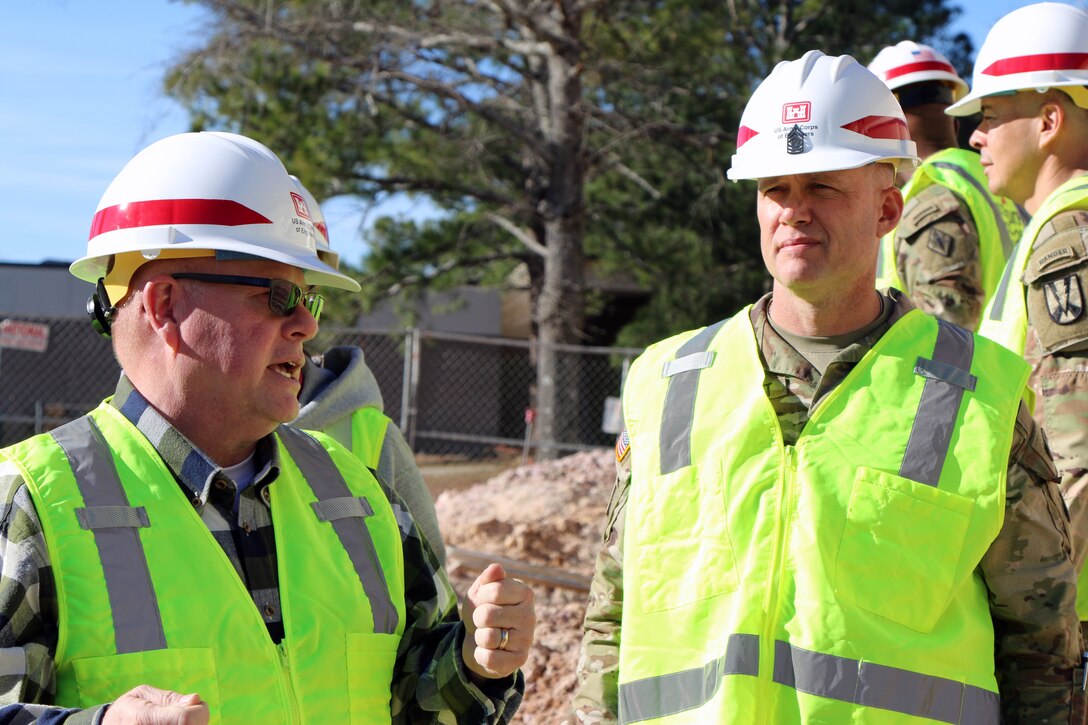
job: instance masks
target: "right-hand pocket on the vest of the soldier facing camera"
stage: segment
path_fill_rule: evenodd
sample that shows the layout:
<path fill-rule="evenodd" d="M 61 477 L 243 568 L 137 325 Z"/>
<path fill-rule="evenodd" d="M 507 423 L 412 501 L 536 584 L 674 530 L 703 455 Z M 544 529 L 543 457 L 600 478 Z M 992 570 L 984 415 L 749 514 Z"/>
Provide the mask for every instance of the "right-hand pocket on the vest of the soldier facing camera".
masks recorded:
<path fill-rule="evenodd" d="M 928 632 L 955 588 L 975 502 L 860 467 L 836 563 L 845 602 Z"/>

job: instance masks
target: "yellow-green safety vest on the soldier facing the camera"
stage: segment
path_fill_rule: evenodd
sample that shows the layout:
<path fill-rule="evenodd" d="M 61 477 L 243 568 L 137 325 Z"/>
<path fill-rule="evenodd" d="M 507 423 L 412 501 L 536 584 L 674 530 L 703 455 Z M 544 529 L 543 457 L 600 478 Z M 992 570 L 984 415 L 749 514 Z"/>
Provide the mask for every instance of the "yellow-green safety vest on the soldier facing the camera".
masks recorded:
<path fill-rule="evenodd" d="M 977 565 L 1029 367 L 912 310 L 786 445 L 750 309 L 631 368 L 620 722 L 997 723 Z"/>

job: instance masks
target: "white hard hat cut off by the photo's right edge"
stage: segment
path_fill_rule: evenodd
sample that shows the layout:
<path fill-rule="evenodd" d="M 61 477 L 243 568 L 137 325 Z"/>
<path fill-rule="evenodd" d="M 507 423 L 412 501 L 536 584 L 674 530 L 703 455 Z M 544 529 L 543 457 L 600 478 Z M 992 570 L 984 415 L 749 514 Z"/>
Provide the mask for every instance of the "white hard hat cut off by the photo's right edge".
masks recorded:
<path fill-rule="evenodd" d="M 1060 2 L 1039 2 L 1009 13 L 990 28 L 970 93 L 950 106 L 951 115 L 980 110 L 986 96 L 1060 88 L 1088 108 L 1088 12 Z"/>

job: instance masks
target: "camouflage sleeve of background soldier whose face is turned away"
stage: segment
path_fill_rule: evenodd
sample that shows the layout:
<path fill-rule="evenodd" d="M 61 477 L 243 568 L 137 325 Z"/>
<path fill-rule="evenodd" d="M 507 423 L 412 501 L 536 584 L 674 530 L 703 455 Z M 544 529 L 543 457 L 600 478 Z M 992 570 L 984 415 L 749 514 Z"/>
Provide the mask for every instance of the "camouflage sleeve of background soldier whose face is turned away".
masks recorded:
<path fill-rule="evenodd" d="M 912 198 L 895 229 L 895 266 L 924 312 L 974 330 L 986 293 L 978 231 L 967 205 L 935 184 Z"/>

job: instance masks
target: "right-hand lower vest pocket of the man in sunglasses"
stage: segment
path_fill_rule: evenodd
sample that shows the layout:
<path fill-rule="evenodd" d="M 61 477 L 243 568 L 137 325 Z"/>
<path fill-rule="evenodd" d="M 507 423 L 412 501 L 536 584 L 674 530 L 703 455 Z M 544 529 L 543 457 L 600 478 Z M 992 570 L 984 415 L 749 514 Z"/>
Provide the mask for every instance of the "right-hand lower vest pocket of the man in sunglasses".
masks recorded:
<path fill-rule="evenodd" d="M 399 636 L 347 635 L 347 688 L 351 723 L 390 722 L 390 688 Z"/>

